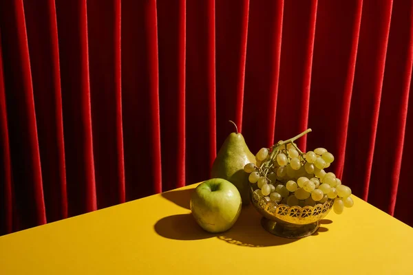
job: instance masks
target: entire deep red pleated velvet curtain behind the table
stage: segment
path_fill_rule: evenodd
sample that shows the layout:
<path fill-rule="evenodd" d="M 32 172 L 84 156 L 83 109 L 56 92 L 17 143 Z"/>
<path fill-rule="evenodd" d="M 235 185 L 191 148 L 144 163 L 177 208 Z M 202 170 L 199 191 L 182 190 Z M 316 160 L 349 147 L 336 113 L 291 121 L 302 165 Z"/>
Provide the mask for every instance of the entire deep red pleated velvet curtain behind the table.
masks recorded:
<path fill-rule="evenodd" d="M 412 0 L 0 0 L 0 234 L 209 177 L 310 127 L 413 224 Z"/>

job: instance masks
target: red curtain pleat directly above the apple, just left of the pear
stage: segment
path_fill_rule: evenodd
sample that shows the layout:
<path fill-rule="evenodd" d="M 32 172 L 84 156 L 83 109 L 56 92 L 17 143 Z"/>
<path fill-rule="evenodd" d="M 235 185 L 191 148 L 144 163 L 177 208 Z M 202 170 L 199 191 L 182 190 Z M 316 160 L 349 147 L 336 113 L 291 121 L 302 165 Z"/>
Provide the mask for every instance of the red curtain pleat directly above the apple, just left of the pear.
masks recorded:
<path fill-rule="evenodd" d="M 215 1 L 187 1 L 187 183 L 209 177 L 215 159 Z"/>

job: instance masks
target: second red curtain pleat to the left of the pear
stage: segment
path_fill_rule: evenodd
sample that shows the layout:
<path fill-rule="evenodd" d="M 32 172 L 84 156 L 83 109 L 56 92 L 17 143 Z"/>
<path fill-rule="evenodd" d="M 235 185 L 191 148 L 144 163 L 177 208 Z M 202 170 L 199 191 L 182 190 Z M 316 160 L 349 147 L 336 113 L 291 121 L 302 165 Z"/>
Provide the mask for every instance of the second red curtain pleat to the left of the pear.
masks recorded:
<path fill-rule="evenodd" d="M 186 0 L 158 1 L 162 190 L 185 185 Z M 171 114 L 176 119 L 171 120 Z M 171 167 L 173 165 L 173 168 Z"/>

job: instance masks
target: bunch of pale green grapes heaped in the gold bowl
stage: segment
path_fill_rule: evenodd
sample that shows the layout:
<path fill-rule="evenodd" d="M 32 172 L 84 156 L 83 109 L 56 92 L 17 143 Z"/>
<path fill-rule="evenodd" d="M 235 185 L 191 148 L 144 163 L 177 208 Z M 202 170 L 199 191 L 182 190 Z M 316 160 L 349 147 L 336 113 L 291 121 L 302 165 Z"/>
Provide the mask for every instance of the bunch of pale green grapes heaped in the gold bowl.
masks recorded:
<path fill-rule="evenodd" d="M 250 173 L 251 184 L 257 184 L 254 192 L 267 201 L 303 207 L 335 199 L 332 208 L 337 214 L 354 204 L 351 189 L 324 170 L 334 161 L 325 148 L 303 153 L 293 141 L 278 142 L 269 149 L 261 148 L 255 158 L 257 165 L 246 164 L 244 171 Z"/>

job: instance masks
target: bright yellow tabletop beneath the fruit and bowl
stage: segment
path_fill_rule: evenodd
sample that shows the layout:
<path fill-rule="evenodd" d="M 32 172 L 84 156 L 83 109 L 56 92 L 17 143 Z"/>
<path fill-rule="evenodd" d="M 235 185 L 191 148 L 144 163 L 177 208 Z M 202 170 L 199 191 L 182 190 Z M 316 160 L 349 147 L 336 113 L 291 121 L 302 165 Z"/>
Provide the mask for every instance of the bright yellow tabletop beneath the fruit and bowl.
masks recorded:
<path fill-rule="evenodd" d="M 413 229 L 354 197 L 304 239 L 266 232 L 253 206 L 228 232 L 172 190 L 0 237 L 0 274 L 413 274 Z"/>

